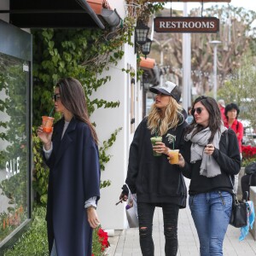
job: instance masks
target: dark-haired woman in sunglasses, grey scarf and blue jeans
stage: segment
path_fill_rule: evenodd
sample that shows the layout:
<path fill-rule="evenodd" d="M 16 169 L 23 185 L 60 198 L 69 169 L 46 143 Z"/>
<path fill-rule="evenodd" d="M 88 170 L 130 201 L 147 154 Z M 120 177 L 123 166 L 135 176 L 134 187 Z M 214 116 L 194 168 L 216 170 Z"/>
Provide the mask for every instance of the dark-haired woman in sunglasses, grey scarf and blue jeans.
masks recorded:
<path fill-rule="evenodd" d="M 231 180 L 240 171 L 236 134 L 224 127 L 217 102 L 195 99 L 194 120 L 185 132 L 178 166 L 190 179 L 189 208 L 200 241 L 200 255 L 223 255 L 232 210 Z"/>

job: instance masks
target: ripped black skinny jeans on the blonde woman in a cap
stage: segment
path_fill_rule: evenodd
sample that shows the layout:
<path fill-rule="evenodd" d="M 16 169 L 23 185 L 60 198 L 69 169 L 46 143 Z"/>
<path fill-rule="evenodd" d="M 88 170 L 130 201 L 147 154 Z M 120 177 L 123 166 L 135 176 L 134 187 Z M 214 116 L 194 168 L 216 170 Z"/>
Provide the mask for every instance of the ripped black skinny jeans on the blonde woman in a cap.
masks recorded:
<path fill-rule="evenodd" d="M 166 256 L 177 255 L 177 216 L 179 207 L 174 204 L 137 203 L 139 219 L 140 245 L 143 256 L 154 256 L 154 241 L 152 226 L 154 208 L 162 207 L 164 217 L 164 232 L 166 236 Z"/>

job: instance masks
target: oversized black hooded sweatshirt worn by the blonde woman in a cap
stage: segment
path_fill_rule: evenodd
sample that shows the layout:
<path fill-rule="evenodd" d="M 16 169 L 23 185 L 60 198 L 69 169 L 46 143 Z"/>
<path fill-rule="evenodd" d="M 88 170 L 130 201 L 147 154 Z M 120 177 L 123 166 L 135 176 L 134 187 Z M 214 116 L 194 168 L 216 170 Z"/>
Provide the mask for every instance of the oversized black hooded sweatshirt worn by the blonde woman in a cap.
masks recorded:
<path fill-rule="evenodd" d="M 182 172 L 177 165 L 170 165 L 166 154 L 154 156 L 150 137 L 154 137 L 147 128 L 148 119 L 143 119 L 130 148 L 129 166 L 125 183 L 132 193 L 137 193 L 138 202 L 174 203 L 186 206 L 187 189 Z M 163 136 L 163 143 L 172 148 L 183 147 L 183 131 L 187 123 L 183 122 L 176 129 L 170 129 Z"/>

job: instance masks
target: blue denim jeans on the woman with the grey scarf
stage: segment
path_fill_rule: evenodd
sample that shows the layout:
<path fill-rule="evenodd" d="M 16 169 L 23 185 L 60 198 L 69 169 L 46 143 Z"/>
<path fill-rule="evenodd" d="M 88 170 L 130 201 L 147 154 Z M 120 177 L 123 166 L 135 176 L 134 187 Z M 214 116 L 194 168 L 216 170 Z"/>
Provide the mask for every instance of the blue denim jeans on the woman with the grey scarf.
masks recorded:
<path fill-rule="evenodd" d="M 200 241 L 201 256 L 223 255 L 223 241 L 232 209 L 232 195 L 212 191 L 189 196 L 189 207 Z"/>

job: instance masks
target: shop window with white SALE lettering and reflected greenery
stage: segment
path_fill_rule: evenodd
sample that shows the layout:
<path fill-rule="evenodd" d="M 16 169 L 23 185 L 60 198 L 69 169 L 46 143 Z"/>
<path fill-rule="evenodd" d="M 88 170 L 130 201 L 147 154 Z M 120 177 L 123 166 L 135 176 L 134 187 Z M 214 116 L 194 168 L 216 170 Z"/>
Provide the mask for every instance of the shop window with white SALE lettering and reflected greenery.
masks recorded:
<path fill-rule="evenodd" d="M 19 33 L 12 36 L 12 28 L 9 38 L 19 38 Z M 31 217 L 31 61 L 7 52 L 0 48 L 0 247 Z"/>

